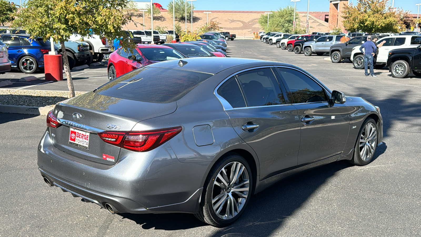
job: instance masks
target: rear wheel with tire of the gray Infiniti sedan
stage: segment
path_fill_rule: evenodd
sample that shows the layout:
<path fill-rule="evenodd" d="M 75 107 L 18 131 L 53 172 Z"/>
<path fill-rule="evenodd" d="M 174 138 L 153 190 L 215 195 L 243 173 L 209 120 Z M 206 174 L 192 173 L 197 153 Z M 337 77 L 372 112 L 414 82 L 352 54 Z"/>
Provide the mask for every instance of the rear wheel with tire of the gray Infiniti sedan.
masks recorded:
<path fill-rule="evenodd" d="M 216 227 L 240 217 L 251 196 L 253 175 L 247 161 L 236 153 L 221 157 L 205 180 L 199 213 L 195 216 Z"/>

